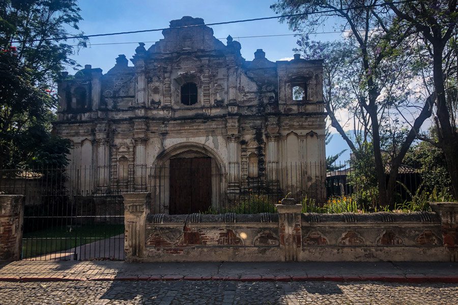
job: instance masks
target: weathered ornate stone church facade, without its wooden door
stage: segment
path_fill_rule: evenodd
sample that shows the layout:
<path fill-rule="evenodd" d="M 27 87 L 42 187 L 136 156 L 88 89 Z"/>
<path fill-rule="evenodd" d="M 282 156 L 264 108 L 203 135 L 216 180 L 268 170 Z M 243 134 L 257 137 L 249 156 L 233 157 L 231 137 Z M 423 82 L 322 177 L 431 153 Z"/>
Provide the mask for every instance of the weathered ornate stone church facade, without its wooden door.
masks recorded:
<path fill-rule="evenodd" d="M 239 193 L 261 177 L 323 200 L 321 60 L 296 54 L 271 62 L 259 49 L 248 61 L 239 42 L 229 36 L 224 45 L 203 24 L 171 21 L 164 39 L 148 50 L 139 44 L 133 67 L 121 54 L 106 74 L 87 65 L 65 76 L 54 127 L 73 143 L 70 166 L 81 169 L 71 172 L 73 187 L 105 193 L 159 185 L 162 197 L 152 200 L 167 213 L 170 160 L 210 158 L 215 207 L 218 194 Z M 300 100 L 293 87 L 303 90 Z M 287 164 L 296 178 L 282 169 Z M 91 180 L 81 186 L 83 176 Z"/>

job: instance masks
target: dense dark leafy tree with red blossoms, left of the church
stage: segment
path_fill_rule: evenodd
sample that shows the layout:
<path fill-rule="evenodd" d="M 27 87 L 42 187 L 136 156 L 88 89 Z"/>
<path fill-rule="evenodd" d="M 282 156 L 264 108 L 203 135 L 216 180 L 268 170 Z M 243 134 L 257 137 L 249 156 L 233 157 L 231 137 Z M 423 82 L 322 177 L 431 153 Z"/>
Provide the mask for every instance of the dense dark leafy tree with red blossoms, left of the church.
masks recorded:
<path fill-rule="evenodd" d="M 51 135 L 50 123 L 55 82 L 77 66 L 62 38 L 80 20 L 74 0 L 0 0 L 1 167 L 66 164 L 69 142 Z"/>

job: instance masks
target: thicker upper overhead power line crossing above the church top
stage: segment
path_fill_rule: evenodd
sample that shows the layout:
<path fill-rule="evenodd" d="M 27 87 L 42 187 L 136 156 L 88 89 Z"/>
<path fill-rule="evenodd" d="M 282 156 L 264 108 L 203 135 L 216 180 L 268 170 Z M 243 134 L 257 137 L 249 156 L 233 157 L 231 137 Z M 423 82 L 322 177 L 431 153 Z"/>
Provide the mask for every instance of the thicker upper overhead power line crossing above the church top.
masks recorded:
<path fill-rule="evenodd" d="M 403 3 L 411 3 L 417 0 L 400 0 L 396 2 L 391 2 L 390 4 L 403 4 Z M 388 3 L 378 3 L 373 5 L 363 5 L 363 6 L 355 6 L 342 9 L 343 11 L 348 10 L 359 10 L 359 9 L 367 9 L 367 8 L 374 8 L 380 6 L 387 6 Z M 102 37 L 102 36 L 115 36 L 115 35 L 125 35 L 125 34 L 136 34 L 136 33 L 146 33 L 146 32 L 158 32 L 163 31 L 164 29 L 177 29 L 177 28 L 189 28 L 189 27 L 197 27 L 197 26 L 209 26 L 209 25 L 221 25 L 221 24 L 230 24 L 230 23 L 240 23 L 240 22 L 251 22 L 251 21 L 259 21 L 259 20 L 269 20 L 269 19 L 279 19 L 279 18 L 289 18 L 289 17 L 299 17 L 299 16 L 306 16 L 306 15 L 316 15 L 316 14 L 326 14 L 337 12 L 337 9 L 329 9 L 323 11 L 316 11 L 316 12 L 306 12 L 306 13 L 299 13 L 299 14 L 289 14 L 289 15 L 280 15 L 280 16 L 271 16 L 271 17 L 261 17 L 261 18 L 251 18 L 251 19 L 241 19 L 241 20 L 233 20 L 233 21 L 222 21 L 222 22 L 213 22 L 207 24 L 193 24 L 193 25 L 183 25 L 183 26 L 174 26 L 174 27 L 163 27 L 163 28 L 154 28 L 154 29 L 141 29 L 138 31 L 127 31 L 127 32 L 117 32 L 117 33 L 105 33 L 105 34 L 92 34 L 92 35 L 78 35 L 78 36 L 64 36 L 64 37 L 56 37 L 56 38 L 45 38 L 45 39 L 32 39 L 26 40 L 27 42 L 36 42 L 36 41 L 48 41 L 48 40 L 67 40 L 67 39 L 78 39 L 78 38 L 90 38 L 90 37 Z M 21 43 L 22 41 L 13 41 L 12 43 Z"/>

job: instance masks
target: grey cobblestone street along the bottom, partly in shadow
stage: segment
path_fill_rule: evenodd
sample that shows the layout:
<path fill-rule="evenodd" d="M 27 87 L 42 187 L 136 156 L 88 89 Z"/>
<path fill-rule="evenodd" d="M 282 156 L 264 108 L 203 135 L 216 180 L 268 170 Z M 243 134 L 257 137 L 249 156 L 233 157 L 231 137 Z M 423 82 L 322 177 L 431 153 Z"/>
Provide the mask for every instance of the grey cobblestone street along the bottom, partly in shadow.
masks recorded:
<path fill-rule="evenodd" d="M 456 284 L 0 282 L 2 304 L 457 304 Z"/>

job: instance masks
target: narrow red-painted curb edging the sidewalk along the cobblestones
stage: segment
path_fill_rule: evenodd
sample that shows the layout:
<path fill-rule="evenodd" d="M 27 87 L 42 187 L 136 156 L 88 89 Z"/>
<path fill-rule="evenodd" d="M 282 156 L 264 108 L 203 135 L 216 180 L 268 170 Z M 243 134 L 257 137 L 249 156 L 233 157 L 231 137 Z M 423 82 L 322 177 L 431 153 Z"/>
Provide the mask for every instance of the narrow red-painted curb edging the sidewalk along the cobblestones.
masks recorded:
<path fill-rule="evenodd" d="M 235 281 L 235 282 L 386 282 L 386 283 L 458 283 L 458 276 L 94 276 L 89 278 L 72 276 L 0 276 L 0 282 L 71 282 L 71 281 Z"/>

